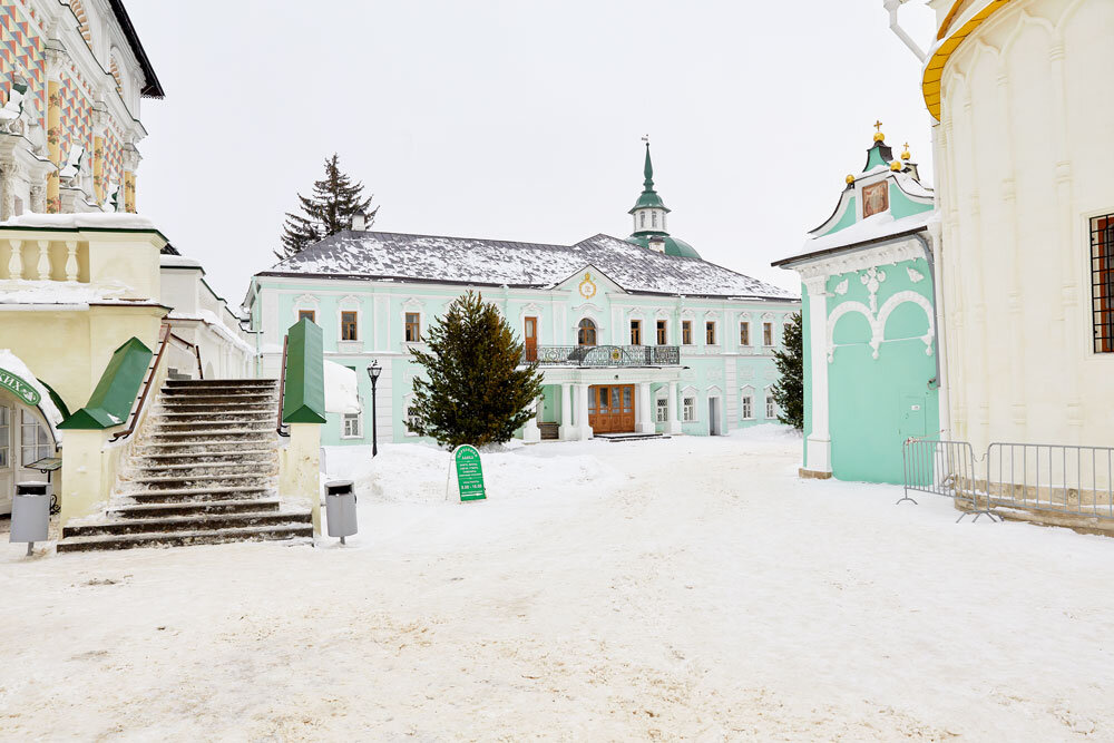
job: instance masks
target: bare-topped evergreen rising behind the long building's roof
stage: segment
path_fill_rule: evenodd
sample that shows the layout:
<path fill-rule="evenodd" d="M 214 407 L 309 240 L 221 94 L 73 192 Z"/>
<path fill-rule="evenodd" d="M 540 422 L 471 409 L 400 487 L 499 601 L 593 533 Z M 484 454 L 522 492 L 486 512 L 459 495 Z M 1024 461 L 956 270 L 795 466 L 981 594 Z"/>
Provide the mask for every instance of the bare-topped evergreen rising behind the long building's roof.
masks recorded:
<path fill-rule="evenodd" d="M 371 198 L 363 197 L 363 184 L 352 183 L 341 172 L 336 153 L 325 160 L 325 177 L 313 183 L 313 195 L 297 194 L 301 214 L 286 213 L 283 225 L 282 251 L 275 251 L 280 260 L 297 255 L 307 245 L 335 235 L 352 226 L 352 215 L 368 215 L 368 226 L 375 219 L 377 206 L 369 211 Z"/>

